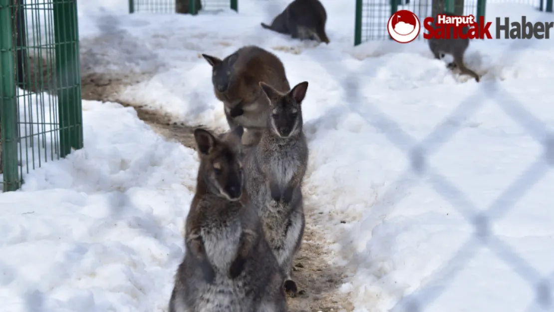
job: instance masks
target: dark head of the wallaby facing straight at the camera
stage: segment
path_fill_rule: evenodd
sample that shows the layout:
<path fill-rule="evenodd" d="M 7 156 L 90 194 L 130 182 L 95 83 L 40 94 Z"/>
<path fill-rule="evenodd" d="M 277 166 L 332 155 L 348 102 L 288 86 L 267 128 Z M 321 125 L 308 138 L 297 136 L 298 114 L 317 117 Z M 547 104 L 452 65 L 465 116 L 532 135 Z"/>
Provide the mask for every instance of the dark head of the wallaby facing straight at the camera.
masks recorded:
<path fill-rule="evenodd" d="M 260 87 L 270 101 L 269 125 L 271 130 L 283 139 L 302 131 L 301 104 L 306 96 L 307 81 L 297 84 L 286 94 L 279 93 L 263 82 L 260 82 Z"/>

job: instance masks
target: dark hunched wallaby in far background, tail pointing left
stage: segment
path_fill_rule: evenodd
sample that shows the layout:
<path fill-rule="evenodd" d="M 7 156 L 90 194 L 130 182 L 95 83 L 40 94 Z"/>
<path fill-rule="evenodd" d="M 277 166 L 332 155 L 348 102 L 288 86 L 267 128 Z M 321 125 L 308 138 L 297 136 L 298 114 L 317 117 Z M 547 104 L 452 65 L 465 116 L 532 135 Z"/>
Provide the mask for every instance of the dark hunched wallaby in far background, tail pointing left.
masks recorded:
<path fill-rule="evenodd" d="M 301 40 L 316 40 L 329 44 L 325 32 L 327 12 L 319 0 L 294 0 L 273 19 L 271 25 L 261 27 Z"/>

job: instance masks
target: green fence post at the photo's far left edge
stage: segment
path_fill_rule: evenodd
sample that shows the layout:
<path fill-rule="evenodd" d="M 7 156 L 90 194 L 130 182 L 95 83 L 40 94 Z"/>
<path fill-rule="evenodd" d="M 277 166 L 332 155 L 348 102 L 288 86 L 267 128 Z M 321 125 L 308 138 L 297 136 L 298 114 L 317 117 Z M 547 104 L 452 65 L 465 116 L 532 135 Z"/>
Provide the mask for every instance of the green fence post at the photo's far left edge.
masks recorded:
<path fill-rule="evenodd" d="M 16 60 L 10 2 L 0 0 L 0 132 L 4 192 L 17 190 L 20 182 L 17 170 Z"/>

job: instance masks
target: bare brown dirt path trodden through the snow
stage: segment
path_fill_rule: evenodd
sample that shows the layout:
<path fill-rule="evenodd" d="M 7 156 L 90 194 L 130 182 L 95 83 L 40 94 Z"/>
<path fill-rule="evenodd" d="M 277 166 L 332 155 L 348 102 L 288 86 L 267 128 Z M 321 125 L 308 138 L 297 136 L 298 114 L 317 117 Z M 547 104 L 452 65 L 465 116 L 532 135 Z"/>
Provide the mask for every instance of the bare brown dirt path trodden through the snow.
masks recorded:
<path fill-rule="evenodd" d="M 84 100 L 111 101 L 131 106 L 137 115 L 158 134 L 168 140 L 181 142 L 194 149 L 193 126 L 172 123 L 168 115 L 152 111 L 133 103 L 124 103 L 118 99 L 120 92 L 136 83 L 129 78 L 108 74 L 88 74 L 82 79 Z M 289 298 L 290 312 L 338 312 L 352 311 L 352 305 L 338 291 L 342 284 L 343 270 L 331 267 L 325 260 L 329 252 L 325 240 L 315 228 L 320 214 L 306 207 L 306 229 L 304 241 L 294 263 L 293 278 L 299 287 L 299 295 Z"/>

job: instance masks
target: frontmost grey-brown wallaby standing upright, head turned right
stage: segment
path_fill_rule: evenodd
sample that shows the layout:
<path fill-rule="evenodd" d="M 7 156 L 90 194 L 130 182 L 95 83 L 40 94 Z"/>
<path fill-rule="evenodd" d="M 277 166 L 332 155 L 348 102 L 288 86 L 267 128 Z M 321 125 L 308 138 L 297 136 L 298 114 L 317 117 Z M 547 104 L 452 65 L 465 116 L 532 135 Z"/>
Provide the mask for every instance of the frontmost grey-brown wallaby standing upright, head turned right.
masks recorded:
<path fill-rule="evenodd" d="M 200 166 L 169 312 L 287 311 L 285 274 L 245 190 L 242 135 L 194 130 Z"/>

